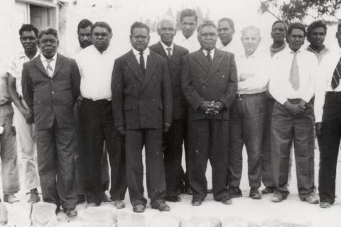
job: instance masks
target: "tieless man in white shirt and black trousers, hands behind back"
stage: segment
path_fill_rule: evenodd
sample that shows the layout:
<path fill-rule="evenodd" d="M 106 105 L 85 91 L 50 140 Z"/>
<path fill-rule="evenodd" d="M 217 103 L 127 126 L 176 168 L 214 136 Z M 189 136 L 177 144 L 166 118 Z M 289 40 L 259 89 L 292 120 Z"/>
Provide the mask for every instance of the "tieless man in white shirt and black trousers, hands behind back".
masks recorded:
<path fill-rule="evenodd" d="M 124 137 L 114 130 L 112 116 L 112 69 L 115 55 L 110 44 L 112 28 L 105 22 L 94 23 L 91 29 L 93 45 L 76 57 L 80 69 L 80 127 L 85 153 L 85 192 L 88 204 L 102 201 L 102 159 L 104 141 L 111 167 L 110 196 L 114 206 L 124 208 L 126 175 Z"/>

